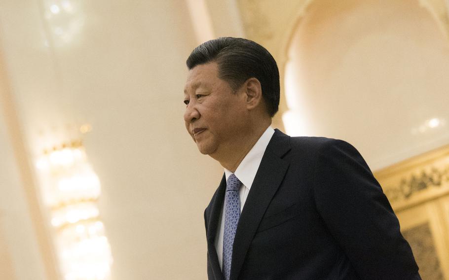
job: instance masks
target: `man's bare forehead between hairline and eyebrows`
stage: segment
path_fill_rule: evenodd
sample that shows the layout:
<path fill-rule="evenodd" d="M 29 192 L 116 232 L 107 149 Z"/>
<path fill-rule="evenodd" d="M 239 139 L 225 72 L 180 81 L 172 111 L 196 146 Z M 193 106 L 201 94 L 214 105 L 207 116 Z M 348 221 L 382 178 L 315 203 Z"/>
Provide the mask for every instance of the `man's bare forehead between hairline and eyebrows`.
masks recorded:
<path fill-rule="evenodd" d="M 188 71 L 184 91 L 200 86 L 212 86 L 218 82 L 218 65 L 215 62 L 200 64 Z"/>

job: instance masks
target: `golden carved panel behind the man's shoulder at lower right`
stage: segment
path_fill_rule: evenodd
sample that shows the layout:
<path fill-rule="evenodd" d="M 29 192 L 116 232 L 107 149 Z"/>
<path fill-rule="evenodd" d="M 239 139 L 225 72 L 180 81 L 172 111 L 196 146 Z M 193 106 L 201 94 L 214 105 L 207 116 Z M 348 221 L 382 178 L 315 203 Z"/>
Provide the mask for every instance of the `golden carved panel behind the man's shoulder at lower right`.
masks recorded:
<path fill-rule="evenodd" d="M 422 279 L 448 280 L 449 146 L 387 167 L 374 176 L 398 215 Z"/>

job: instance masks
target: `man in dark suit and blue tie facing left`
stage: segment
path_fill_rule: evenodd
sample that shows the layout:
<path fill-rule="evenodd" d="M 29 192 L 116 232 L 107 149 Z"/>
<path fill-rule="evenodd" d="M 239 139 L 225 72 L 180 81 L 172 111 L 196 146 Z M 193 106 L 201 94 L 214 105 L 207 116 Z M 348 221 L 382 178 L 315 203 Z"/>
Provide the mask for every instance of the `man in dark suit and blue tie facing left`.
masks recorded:
<path fill-rule="evenodd" d="M 187 131 L 225 168 L 204 212 L 209 279 L 420 279 L 357 150 L 270 127 L 279 72 L 266 49 L 218 38 L 195 48 L 187 67 Z"/>

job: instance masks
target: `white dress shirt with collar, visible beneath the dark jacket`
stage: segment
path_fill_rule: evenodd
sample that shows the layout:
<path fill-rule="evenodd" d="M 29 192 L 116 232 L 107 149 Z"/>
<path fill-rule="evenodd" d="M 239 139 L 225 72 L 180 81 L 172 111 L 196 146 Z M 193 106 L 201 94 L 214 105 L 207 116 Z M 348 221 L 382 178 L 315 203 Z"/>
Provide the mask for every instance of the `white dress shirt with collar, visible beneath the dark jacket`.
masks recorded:
<path fill-rule="evenodd" d="M 256 144 L 251 148 L 242 162 L 239 164 L 237 169 L 235 170 L 235 176 L 242 182 L 242 185 L 239 189 L 240 196 L 240 213 L 243 210 L 243 206 L 245 205 L 246 198 L 248 197 L 248 193 L 250 192 L 251 185 L 253 184 L 254 177 L 256 177 L 257 170 L 259 169 L 259 165 L 261 164 L 263 154 L 265 153 L 266 146 L 268 146 L 268 142 L 271 140 L 271 137 L 274 134 L 274 129 L 270 126 L 265 130 L 262 134 L 261 138 L 257 140 Z M 227 178 L 232 174 L 229 170 L 225 169 L 226 181 Z M 215 238 L 215 248 L 217 250 L 218 262 L 220 263 L 220 267 L 223 269 L 223 235 L 225 233 L 225 202 L 223 203 L 222 210 L 220 212 L 220 219 L 218 221 L 217 227 L 217 237 Z"/>

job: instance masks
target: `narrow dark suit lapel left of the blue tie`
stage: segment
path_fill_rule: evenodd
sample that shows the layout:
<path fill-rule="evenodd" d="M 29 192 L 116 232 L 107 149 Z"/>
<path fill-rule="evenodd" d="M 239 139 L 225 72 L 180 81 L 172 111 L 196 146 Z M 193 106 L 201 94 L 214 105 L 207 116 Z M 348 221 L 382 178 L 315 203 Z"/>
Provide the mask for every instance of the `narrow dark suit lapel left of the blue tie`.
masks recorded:
<path fill-rule="evenodd" d="M 212 271 L 216 280 L 223 280 L 222 270 L 218 262 L 217 249 L 215 248 L 215 236 L 217 235 L 217 226 L 220 219 L 223 201 L 225 199 L 226 178 L 223 175 L 220 186 L 218 187 L 213 202 L 211 204 L 210 215 L 207 217 L 207 250 L 209 252 L 209 260 L 211 262 Z"/>

